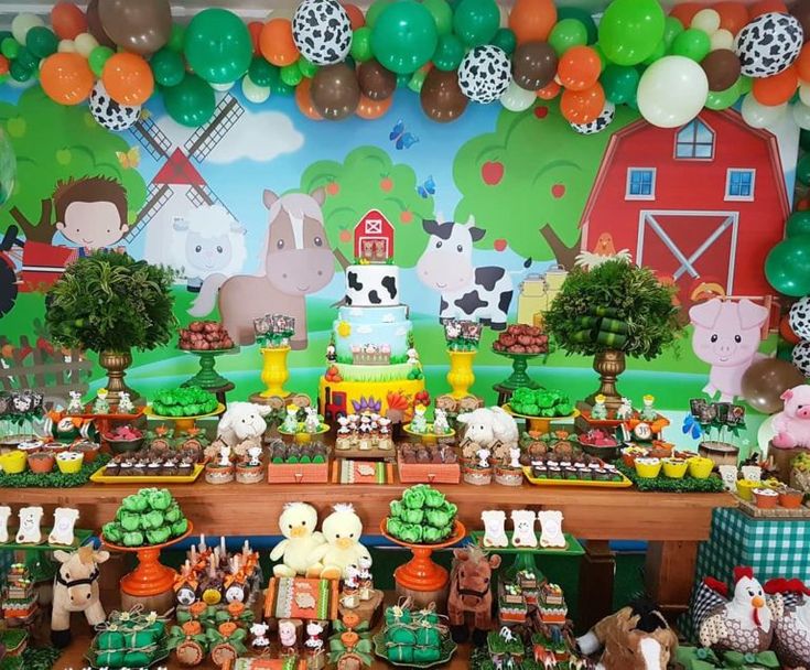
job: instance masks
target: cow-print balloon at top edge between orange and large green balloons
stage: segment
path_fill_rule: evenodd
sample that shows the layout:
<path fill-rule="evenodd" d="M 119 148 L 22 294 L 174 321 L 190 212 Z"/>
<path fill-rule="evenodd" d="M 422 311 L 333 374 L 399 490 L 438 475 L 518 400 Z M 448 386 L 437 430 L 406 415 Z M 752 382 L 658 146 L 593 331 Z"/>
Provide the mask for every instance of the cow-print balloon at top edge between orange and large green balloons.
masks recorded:
<path fill-rule="evenodd" d="M 292 39 L 315 65 L 342 63 L 352 46 L 352 22 L 337 0 L 304 0 L 292 19 Z"/>

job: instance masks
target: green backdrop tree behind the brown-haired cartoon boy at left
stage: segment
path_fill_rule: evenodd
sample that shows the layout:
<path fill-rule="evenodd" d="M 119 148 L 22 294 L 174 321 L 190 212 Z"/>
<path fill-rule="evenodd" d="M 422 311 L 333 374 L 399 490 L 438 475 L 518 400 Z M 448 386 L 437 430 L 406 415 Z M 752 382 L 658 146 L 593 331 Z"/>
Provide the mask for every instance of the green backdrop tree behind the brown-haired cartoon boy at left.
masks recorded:
<path fill-rule="evenodd" d="M 7 205 L 11 219 L 30 240 L 50 242 L 56 228 L 51 194 L 58 180 L 106 176 L 127 190 L 132 223 L 147 197 L 147 185 L 134 168 L 123 168 L 118 153 L 129 144 L 94 120 L 85 105 L 65 107 L 39 86 L 25 90 L 17 105 L 0 104 L 0 125 L 17 154 L 17 180 Z M 125 161 L 126 162 L 126 161 Z"/>

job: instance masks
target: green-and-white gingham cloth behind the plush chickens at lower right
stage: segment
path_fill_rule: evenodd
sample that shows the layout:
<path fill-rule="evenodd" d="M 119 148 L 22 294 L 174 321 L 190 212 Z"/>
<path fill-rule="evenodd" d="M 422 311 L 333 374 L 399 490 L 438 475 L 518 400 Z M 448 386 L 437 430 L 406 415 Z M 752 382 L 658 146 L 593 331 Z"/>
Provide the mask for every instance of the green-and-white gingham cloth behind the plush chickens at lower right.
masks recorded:
<path fill-rule="evenodd" d="M 698 550 L 695 584 L 712 576 L 732 585 L 734 569 L 750 565 L 765 583 L 774 577 L 810 582 L 810 519 L 756 519 L 737 509 L 715 509 L 709 540 Z M 680 628 L 693 636 L 691 617 Z"/>

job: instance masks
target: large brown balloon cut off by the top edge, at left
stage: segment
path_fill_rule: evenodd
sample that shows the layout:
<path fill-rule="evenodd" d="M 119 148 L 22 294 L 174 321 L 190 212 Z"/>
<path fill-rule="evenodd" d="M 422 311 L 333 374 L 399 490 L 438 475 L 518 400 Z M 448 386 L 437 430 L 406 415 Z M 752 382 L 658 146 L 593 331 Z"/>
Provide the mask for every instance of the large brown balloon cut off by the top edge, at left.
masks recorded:
<path fill-rule="evenodd" d="M 98 0 L 98 15 L 110 40 L 136 54 L 153 54 L 172 35 L 169 0 Z"/>

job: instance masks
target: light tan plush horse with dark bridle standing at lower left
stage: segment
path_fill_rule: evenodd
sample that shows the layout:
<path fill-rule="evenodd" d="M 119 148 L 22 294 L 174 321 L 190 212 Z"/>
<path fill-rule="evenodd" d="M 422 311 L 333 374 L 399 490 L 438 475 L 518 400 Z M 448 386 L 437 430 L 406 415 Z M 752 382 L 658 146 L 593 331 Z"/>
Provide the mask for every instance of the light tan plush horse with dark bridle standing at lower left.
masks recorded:
<path fill-rule="evenodd" d="M 98 566 L 110 554 L 85 544 L 74 552 L 56 550 L 53 558 L 61 565 L 53 585 L 51 641 L 64 649 L 71 644 L 71 613 L 84 612 L 90 626 L 98 626 L 107 618 L 98 597 Z"/>

